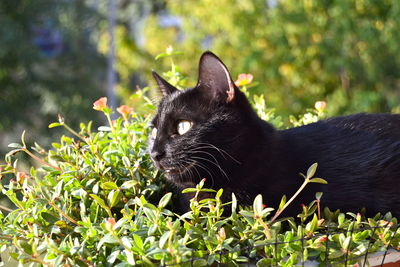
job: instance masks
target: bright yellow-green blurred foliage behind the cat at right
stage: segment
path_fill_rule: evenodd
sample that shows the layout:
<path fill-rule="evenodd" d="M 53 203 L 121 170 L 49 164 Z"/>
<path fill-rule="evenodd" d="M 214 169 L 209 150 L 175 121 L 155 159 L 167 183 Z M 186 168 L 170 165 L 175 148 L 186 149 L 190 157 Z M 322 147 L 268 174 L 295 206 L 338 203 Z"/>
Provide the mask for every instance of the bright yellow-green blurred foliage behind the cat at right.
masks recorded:
<path fill-rule="evenodd" d="M 192 77 L 193 59 L 211 49 L 232 73 L 254 74 L 257 93 L 285 116 L 321 99 L 330 116 L 399 110 L 398 1 L 166 2 L 180 24 L 160 27 L 160 15 L 151 17 L 145 49 L 173 44 Z"/>

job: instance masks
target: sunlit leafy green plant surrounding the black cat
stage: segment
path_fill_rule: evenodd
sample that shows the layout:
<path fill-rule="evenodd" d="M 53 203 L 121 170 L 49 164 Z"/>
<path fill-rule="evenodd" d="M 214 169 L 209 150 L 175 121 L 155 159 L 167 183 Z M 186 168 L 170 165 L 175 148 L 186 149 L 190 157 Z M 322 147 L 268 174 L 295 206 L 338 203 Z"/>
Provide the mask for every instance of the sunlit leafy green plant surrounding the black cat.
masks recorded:
<path fill-rule="evenodd" d="M 173 69 L 165 76 L 179 75 Z M 260 116 L 283 127 L 262 96 L 248 93 L 249 87 L 241 89 Z M 147 105 L 154 109 L 150 101 Z M 60 117 L 50 127 L 64 127 L 67 134 L 52 149 L 28 148 L 24 135 L 20 144 L 10 144 L 1 175 L 11 180 L 3 179 L 0 189 L 15 209 L 0 206 L 3 255 L 42 266 L 294 266 L 306 260 L 340 266 L 400 245 L 397 220 L 390 213 L 366 219 L 321 211 L 322 193 L 303 206 L 298 218 L 282 219 L 279 215 L 296 195 L 284 196 L 279 207 L 264 206 L 261 195 L 251 207 L 242 207 L 234 194 L 223 203 L 222 189 L 203 188 L 202 180 L 183 192 L 194 195 L 190 210 L 176 213 L 174 189 L 146 152 L 151 116 L 121 106 L 122 116 L 112 121 L 105 98 L 94 108 L 104 113 L 107 126 L 93 130 L 90 123 L 81 124 L 75 131 Z M 323 108 L 317 105 L 290 120 L 304 124 L 321 116 Z M 36 161 L 29 172 L 20 170 L 19 153 Z M 314 177 L 316 168 L 314 164 L 299 176 L 304 183 L 297 193 L 308 183 L 326 183 Z M 200 199 L 202 191 L 215 195 Z"/>

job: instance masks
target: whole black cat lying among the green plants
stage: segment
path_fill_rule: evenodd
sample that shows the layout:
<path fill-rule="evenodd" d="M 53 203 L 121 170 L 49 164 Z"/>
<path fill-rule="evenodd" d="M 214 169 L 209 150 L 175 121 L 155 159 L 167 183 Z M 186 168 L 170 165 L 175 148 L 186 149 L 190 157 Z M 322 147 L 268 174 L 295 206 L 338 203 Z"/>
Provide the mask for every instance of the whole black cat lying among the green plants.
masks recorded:
<path fill-rule="evenodd" d="M 180 188 L 202 178 L 206 187 L 234 192 L 251 204 L 262 194 L 277 207 L 291 196 L 310 165 L 327 185 L 310 184 L 287 214 L 315 192 L 330 209 L 400 216 L 400 115 L 356 114 L 288 130 L 261 120 L 211 52 L 200 59 L 195 87 L 179 91 L 153 72 L 164 97 L 154 117 L 151 157 Z"/>

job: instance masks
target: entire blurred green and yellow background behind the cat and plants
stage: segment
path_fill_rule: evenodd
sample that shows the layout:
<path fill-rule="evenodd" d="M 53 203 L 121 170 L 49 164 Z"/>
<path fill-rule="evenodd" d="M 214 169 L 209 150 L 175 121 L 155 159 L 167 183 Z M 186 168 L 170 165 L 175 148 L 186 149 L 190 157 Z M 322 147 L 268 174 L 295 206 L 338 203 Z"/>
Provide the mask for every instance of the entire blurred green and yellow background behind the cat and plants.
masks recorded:
<path fill-rule="evenodd" d="M 23 129 L 48 145 L 59 113 L 101 123 L 101 96 L 141 111 L 130 96 L 150 85 L 153 97 L 150 70 L 169 69 L 154 59 L 169 45 L 187 86 L 211 50 L 234 79 L 252 73 L 250 90 L 281 115 L 317 100 L 329 116 L 400 112 L 398 0 L 2 0 L 0 25 L 1 154 Z"/>

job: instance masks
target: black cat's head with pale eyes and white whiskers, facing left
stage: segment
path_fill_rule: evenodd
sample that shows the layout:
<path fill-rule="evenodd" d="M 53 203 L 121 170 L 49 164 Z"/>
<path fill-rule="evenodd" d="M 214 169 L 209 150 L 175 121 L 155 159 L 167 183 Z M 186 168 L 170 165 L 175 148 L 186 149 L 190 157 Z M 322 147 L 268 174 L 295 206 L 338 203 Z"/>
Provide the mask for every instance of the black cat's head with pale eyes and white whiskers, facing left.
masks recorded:
<path fill-rule="evenodd" d="M 205 52 L 197 85 L 185 90 L 155 72 L 153 76 L 163 95 L 149 138 L 156 167 L 176 184 L 195 184 L 202 178 L 213 186 L 228 182 L 232 167 L 240 163 L 238 153 L 254 112 L 227 67 Z"/>

